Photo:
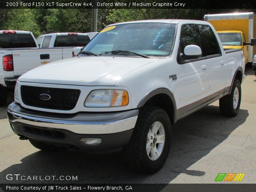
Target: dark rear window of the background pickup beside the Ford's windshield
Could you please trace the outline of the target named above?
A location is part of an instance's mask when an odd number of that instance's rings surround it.
[[[54,47],[84,47],[88,42],[90,38],[85,35],[58,35]]]

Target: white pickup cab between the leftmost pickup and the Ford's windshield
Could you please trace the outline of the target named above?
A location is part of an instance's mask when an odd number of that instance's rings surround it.
[[[40,48],[74,47],[77,55],[90,40],[86,33],[50,33],[39,36],[36,41]]]

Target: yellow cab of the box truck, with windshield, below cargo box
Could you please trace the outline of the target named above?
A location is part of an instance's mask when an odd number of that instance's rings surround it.
[[[248,63],[248,45],[244,44],[246,37],[244,32],[236,30],[217,31],[224,50],[242,49],[245,63]]]

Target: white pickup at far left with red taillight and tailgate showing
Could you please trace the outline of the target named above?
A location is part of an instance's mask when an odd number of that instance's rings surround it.
[[[73,48],[39,49],[28,31],[0,31],[0,106],[6,104],[8,89],[25,72],[42,64],[74,56]]]

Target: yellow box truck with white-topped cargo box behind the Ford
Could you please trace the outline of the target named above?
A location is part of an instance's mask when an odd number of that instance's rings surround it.
[[[208,14],[204,20],[217,31],[225,49],[242,49],[245,63],[252,63],[256,54],[256,14],[253,12]],[[250,43],[248,43],[250,41]],[[248,46],[251,45],[251,46]]]

